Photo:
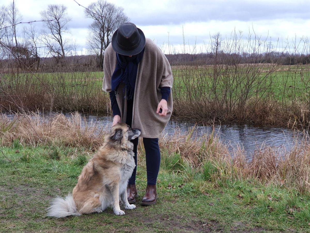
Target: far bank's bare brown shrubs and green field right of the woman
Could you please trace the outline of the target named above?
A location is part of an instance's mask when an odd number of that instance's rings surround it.
[[[309,66],[225,60],[212,67],[184,66],[174,73],[177,119],[289,128],[310,123]]]

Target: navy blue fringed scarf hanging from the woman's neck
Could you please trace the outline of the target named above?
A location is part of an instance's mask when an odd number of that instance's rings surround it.
[[[127,99],[131,100],[133,98],[138,64],[142,60],[143,53],[144,49],[132,57],[116,53],[117,64],[111,78],[111,89],[115,94],[119,84],[125,83]]]

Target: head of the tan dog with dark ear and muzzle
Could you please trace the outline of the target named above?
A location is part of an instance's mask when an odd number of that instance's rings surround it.
[[[125,123],[118,123],[111,128],[109,139],[122,144],[139,137],[140,133],[140,129],[133,129]]]

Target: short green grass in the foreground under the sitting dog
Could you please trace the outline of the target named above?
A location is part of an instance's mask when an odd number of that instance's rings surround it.
[[[51,150],[49,146],[24,146],[16,153],[13,146],[1,148],[1,232],[310,232],[309,195],[255,179],[210,182],[216,172],[211,164],[190,178],[181,164],[171,167],[177,155],[172,155],[170,163],[166,153],[162,153],[156,205],[139,204],[146,185],[140,159],[140,197],[137,208],[125,211],[125,216],[107,209],[101,214],[47,218],[51,198],[72,191],[83,159],[92,156],[88,149],[60,147],[60,158],[55,160]]]

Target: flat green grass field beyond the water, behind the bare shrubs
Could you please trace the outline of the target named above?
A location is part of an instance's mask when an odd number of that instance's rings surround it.
[[[268,70],[269,69],[269,70]],[[232,98],[237,98],[237,94],[244,88],[249,88],[249,95],[267,97],[272,95],[274,100],[282,101],[291,98],[301,98],[308,101],[308,90],[310,88],[310,72],[307,65],[279,66],[272,70],[268,66],[257,66],[242,68],[237,70],[232,67],[220,67],[216,76],[215,92],[223,95],[226,90],[232,91]],[[302,77],[300,74],[302,70]],[[188,95],[188,90],[193,86],[200,86],[202,91],[210,92],[213,89],[214,68],[211,66],[188,66],[172,67],[174,75],[174,91],[177,95]],[[9,77],[11,75],[5,75]],[[104,73],[97,72],[58,72],[58,73],[36,73],[19,74],[20,83],[33,82],[40,85],[43,82],[50,84],[55,89],[63,89],[64,92],[82,92],[87,86],[94,87],[90,92],[101,90]],[[16,78],[15,76],[14,78]],[[13,79],[14,79],[13,78]],[[252,80],[255,79],[255,80]],[[204,83],[201,83],[203,80]],[[260,83],[260,81],[264,81]],[[249,83],[251,82],[251,83]],[[225,87],[229,84],[229,87]],[[58,87],[57,87],[58,86]],[[228,88],[228,89],[226,89]],[[259,92],[259,93],[257,93]],[[195,96],[195,93],[190,93]],[[225,93],[227,94],[227,93]]]

